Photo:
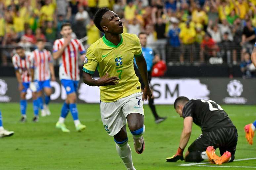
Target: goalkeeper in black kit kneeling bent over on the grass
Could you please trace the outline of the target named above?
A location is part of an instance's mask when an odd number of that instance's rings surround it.
[[[188,144],[193,122],[202,128],[202,134],[189,146],[185,161],[200,162],[208,159],[212,163],[222,164],[235,159],[237,129],[227,113],[212,100],[178,97],[174,108],[184,118],[183,131],[177,153],[166,158],[167,162],[184,160],[183,151]],[[221,157],[215,154],[220,149]]]

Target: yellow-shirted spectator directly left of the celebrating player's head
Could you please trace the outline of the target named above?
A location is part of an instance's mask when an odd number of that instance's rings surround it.
[[[100,31],[99,29],[94,25],[93,20],[91,19],[90,24],[86,26],[87,30],[87,45],[91,45],[92,43],[95,43],[97,40],[100,39]]]

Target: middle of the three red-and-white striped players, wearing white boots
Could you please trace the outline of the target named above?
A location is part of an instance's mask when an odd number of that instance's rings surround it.
[[[50,115],[48,104],[50,102],[50,96],[52,94],[52,88],[50,85],[50,77],[52,81],[55,81],[54,68],[52,63],[51,52],[44,49],[45,43],[42,39],[38,39],[36,43],[37,49],[32,54],[35,61],[35,80],[38,82],[38,103],[41,109],[41,116]],[[42,90],[45,93],[45,104],[43,104]]]

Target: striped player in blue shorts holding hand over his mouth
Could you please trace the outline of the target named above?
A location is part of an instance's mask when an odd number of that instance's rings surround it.
[[[78,51],[80,54],[85,53],[82,43],[77,39],[71,38],[72,29],[70,23],[64,23],[61,26],[61,35],[63,38],[58,39],[53,45],[53,58],[60,60],[59,77],[64,86],[67,98],[61,110],[61,116],[56,123],[56,127],[63,132],[69,132],[64,121],[70,110],[74,120],[77,131],[85,129],[78,119],[78,111],[76,108],[76,91],[79,83],[79,69],[78,69]],[[81,58],[83,56],[80,56]]]

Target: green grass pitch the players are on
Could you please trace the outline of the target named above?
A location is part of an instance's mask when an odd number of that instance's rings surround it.
[[[113,137],[107,135],[100,117],[99,104],[78,104],[80,121],[87,126],[83,132],[76,132],[69,114],[66,126],[70,133],[63,133],[55,128],[60,116],[62,104],[50,104],[51,116],[40,117],[38,123],[32,123],[32,104],[27,106],[27,122],[19,123],[20,106],[18,103],[0,103],[4,127],[14,130],[12,137],[0,139],[0,169],[34,170],[34,169],[90,169],[90,170],[124,170],[124,165],[116,153]],[[223,105],[238,129],[236,159],[256,157],[256,138],[254,145],[247,144],[243,127],[256,119],[256,106]],[[134,166],[137,170],[172,170],[172,169],[220,169],[214,167],[178,166],[187,162],[165,162],[165,158],[176,153],[183,119],[172,105],[157,105],[159,115],[168,119],[156,125],[149,106],[145,105],[145,151],[136,154],[133,139],[128,133],[132,149]],[[193,124],[192,136],[188,146],[195,140],[201,130]],[[187,149],[187,148],[186,148]],[[217,151],[219,154],[219,152]],[[211,165],[211,164],[206,164]],[[231,169],[255,169],[256,159],[224,164]],[[242,166],[246,166],[242,168]],[[228,169],[228,167],[223,168]]]

